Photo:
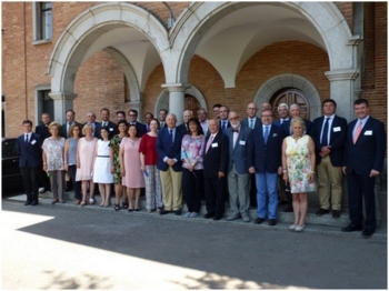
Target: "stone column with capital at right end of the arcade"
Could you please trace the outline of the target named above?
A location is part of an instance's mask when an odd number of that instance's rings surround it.
[[[353,101],[358,98],[355,90],[355,80],[358,77],[358,70],[332,70],[326,72],[328,80],[331,82],[330,97],[337,102],[337,114],[346,118],[347,121],[355,119]]]

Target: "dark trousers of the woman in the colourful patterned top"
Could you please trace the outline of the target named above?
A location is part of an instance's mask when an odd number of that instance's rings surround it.
[[[200,212],[201,193],[203,192],[202,170],[182,168],[182,190],[186,197],[188,212]]]

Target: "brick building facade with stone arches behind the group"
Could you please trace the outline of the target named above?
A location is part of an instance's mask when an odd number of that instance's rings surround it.
[[[82,122],[102,107],[179,113],[187,98],[245,114],[282,90],[306,98],[310,119],[332,98],[351,120],[367,98],[387,123],[386,2],[167,3],[52,2],[41,38],[40,2],[3,2],[3,136],[44,109]]]

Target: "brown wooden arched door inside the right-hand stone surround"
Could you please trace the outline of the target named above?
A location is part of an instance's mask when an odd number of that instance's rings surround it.
[[[285,88],[277,91],[270,99],[271,108],[273,109],[275,120],[279,119],[277,108],[280,103],[287,103],[288,107],[297,103],[301,108],[300,117],[310,120],[309,102],[305,93],[296,88]]]

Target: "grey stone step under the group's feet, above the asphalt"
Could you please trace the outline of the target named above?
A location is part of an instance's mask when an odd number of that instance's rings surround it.
[[[93,205],[87,204],[87,205],[84,205],[84,208],[93,209],[97,211],[116,212],[113,209],[113,203],[108,208],[100,207],[100,201],[101,201],[100,195],[96,195],[94,198],[96,198],[96,203]],[[17,194],[13,197],[9,197],[8,199],[11,201],[24,202],[26,194]],[[52,200],[51,192],[46,192],[43,194],[40,194],[40,198],[39,198],[40,204],[51,205],[51,200]],[[113,197],[111,197],[111,202],[114,202]],[[181,215],[176,215],[174,213],[169,213],[169,214],[164,214],[164,215],[160,215],[157,212],[148,213],[144,209],[144,205],[146,205],[144,197],[140,198],[141,210],[139,212],[132,211],[131,213],[129,213],[127,210],[120,209],[118,211],[118,213],[131,214],[131,215],[151,215],[151,217],[161,218],[161,219],[174,219],[174,220],[188,220],[189,219],[189,220],[194,220],[194,221],[207,221],[207,222],[212,222],[212,223],[242,223],[242,224],[246,224],[247,222],[243,222],[241,219],[237,219],[233,221],[227,221],[226,218],[231,213],[231,210],[230,210],[228,204],[229,203],[226,202],[225,215],[219,221],[203,219],[202,215],[205,213],[207,213],[205,201],[202,201],[200,215],[197,218],[184,218],[183,217],[183,214],[187,212],[186,203],[183,203]],[[381,202],[381,204],[382,204],[382,202]],[[66,192],[66,203],[63,203],[63,204],[57,203],[54,207],[81,208],[80,205],[73,204],[73,192],[72,191]],[[386,204],[383,207],[386,209]],[[269,227],[268,220],[262,222],[261,224],[258,224],[258,225],[255,224],[253,220],[257,218],[257,212],[256,212],[255,208],[250,208],[251,221],[248,223],[253,224],[253,227],[258,227],[258,228],[286,229],[293,222],[293,213],[292,212],[289,212],[289,213],[282,212],[281,210],[283,208],[285,208],[285,205],[279,207],[278,223],[275,227]],[[347,209],[341,212],[341,217],[338,219],[332,218],[331,212],[329,214],[325,214],[322,217],[317,217],[315,213],[318,209],[319,209],[319,202],[318,202],[317,193],[308,194],[308,213],[307,213],[307,219],[306,219],[306,228],[305,228],[303,232],[309,231],[309,232],[331,233],[331,234],[339,234],[339,235],[361,237],[359,231],[351,232],[351,233],[345,233],[345,232],[340,231],[340,229],[342,227],[348,225],[350,222],[349,218],[348,218]],[[379,225],[379,228],[377,228],[377,230],[372,237],[387,238],[388,231],[387,231],[386,217],[383,217],[382,214],[379,217],[382,217],[382,220],[379,221],[380,225]]]

